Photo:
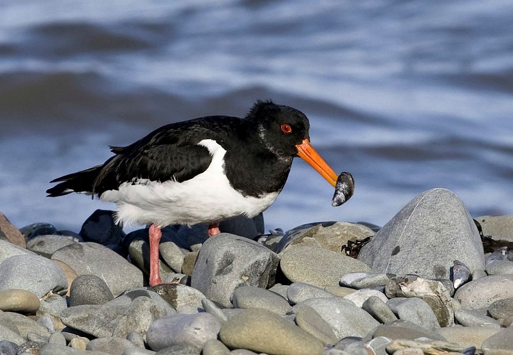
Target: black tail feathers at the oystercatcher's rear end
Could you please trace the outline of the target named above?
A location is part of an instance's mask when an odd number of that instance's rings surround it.
[[[71,192],[92,192],[94,181],[98,173],[102,170],[102,167],[103,165],[97,165],[86,170],[57,177],[57,179],[50,181],[50,183],[61,183],[46,190],[48,193],[47,197],[64,196]]]

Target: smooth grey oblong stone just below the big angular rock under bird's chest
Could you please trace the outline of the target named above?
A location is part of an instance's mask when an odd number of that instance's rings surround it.
[[[242,286],[235,289],[232,303],[235,308],[264,308],[278,314],[285,314],[290,310],[288,301],[283,297],[254,286]]]

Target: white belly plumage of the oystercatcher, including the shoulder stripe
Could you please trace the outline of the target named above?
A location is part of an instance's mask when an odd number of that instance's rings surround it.
[[[230,186],[224,173],[226,150],[214,140],[198,145],[208,149],[212,161],[203,173],[182,183],[140,180],[124,183],[119,190],[102,193],[102,201],[117,204],[116,218],[126,224],[170,224],[220,222],[236,215],[253,217],[269,207],[278,192],[260,198],[243,196]]]

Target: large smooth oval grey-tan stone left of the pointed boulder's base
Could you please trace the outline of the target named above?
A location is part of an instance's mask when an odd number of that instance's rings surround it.
[[[340,278],[349,272],[371,271],[366,264],[340,252],[301,244],[283,252],[280,267],[290,281],[319,287],[338,286]]]

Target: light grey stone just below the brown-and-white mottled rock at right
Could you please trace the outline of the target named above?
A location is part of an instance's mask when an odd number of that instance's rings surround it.
[[[423,326],[430,330],[440,329],[437,317],[426,301],[419,298],[401,299],[400,302],[390,303],[390,309],[399,319]]]

